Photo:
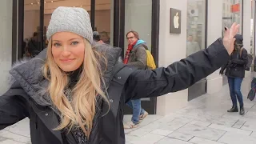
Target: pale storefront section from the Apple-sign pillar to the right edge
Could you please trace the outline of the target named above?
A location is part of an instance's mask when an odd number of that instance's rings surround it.
[[[206,7],[203,8],[205,4]],[[170,34],[170,8],[182,11],[180,24],[181,34]],[[206,11],[204,12],[204,10]],[[180,2],[161,0],[159,66],[168,66],[172,62],[186,58],[188,52],[193,53],[191,50],[188,50],[189,46],[187,46],[190,35],[192,35],[192,39],[198,43],[200,50],[202,50],[206,48],[206,46],[210,46],[217,38],[221,38],[224,26],[230,26],[233,22],[240,23],[241,27],[239,33],[244,37],[244,47],[250,52],[251,13],[254,14],[254,12],[251,11],[251,2],[246,0],[182,0]],[[203,18],[205,18],[206,21],[204,21]],[[201,26],[196,26],[198,24]],[[194,52],[196,52],[196,50]],[[214,94],[222,89],[223,82],[225,82],[225,78],[222,78],[222,75],[219,74],[219,70],[216,70],[213,74],[210,74],[207,78],[202,79],[201,82],[196,83],[186,90],[158,97],[157,114],[170,114],[186,106],[190,99],[198,97],[201,94],[206,93],[210,96],[210,94]],[[203,90],[205,90],[205,92]]]

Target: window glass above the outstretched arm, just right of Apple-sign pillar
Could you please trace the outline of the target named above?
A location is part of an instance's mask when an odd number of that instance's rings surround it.
[[[187,1],[186,57],[205,49],[206,0]]]

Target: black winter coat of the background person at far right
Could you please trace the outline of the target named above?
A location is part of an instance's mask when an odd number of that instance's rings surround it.
[[[240,50],[239,50],[240,51]],[[245,66],[248,62],[247,50],[242,49],[242,53],[234,51],[230,55],[230,60],[226,65],[222,66],[220,71],[223,74],[223,71],[226,70],[225,75],[230,78],[244,78],[245,77]]]

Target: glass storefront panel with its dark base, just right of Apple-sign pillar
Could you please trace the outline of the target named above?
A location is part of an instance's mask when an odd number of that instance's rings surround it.
[[[206,44],[207,0],[187,1],[186,57],[207,47]],[[206,78],[188,88],[188,101],[206,94]]]

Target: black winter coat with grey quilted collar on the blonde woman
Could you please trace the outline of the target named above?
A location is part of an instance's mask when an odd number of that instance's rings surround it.
[[[205,50],[156,70],[122,66],[118,64],[121,50],[111,48],[106,52],[109,65],[104,78],[110,111],[98,119],[98,130],[90,136],[90,143],[94,144],[125,144],[122,108],[131,98],[157,97],[184,90],[218,70],[230,58],[221,39]],[[0,130],[28,117],[32,144],[63,144],[66,138],[74,144],[72,136],[63,138],[60,130],[53,130],[58,126],[58,116],[50,109],[50,103],[43,101],[45,94],[39,93],[48,86],[40,70],[44,61],[38,59],[45,58],[45,53],[10,70],[15,82],[0,97]],[[106,111],[106,104],[102,108]]]

